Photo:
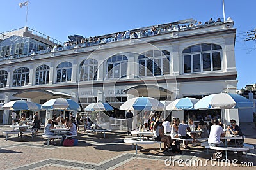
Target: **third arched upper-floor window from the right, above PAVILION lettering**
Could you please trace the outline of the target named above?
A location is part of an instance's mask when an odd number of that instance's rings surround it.
[[[127,57],[125,55],[113,55],[107,60],[108,78],[126,77]]]

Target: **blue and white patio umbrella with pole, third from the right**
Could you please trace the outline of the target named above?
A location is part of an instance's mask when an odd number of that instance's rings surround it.
[[[125,101],[120,110],[142,110],[142,124],[144,124],[144,110],[164,110],[164,104],[151,97],[135,97]]]

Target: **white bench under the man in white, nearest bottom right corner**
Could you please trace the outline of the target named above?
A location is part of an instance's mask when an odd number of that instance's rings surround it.
[[[237,152],[245,152],[246,153],[246,158],[247,158],[247,151],[249,150],[249,148],[244,148],[244,147],[218,147],[218,146],[209,146],[209,144],[207,142],[201,143],[201,146],[203,146],[204,148],[207,148],[207,153],[208,149],[210,150],[224,150],[225,151],[225,155],[226,155],[226,160],[228,159],[228,151],[237,151]],[[247,145],[249,147],[249,144]],[[250,146],[252,148],[252,146]],[[253,147],[254,148],[254,147]]]

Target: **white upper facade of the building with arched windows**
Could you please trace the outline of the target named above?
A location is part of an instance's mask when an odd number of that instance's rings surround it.
[[[0,100],[7,103],[12,99],[28,98],[40,103],[61,96],[38,92],[52,90],[69,95],[74,101],[80,102],[83,108],[93,101],[108,101],[118,108],[124,101],[136,96],[173,101],[191,95],[235,93],[236,29],[233,25],[231,20],[183,31],[161,32],[137,39],[2,60],[0,71],[7,72],[7,81],[6,86],[0,88]],[[211,49],[202,51],[201,47],[201,51],[184,53],[186,48],[194,45],[208,45]],[[189,63],[189,57],[185,55],[191,56],[190,69],[184,68],[184,60]],[[215,63],[218,66],[214,65],[214,60],[220,60]],[[143,63],[146,62],[148,66],[144,69]],[[42,65],[46,66],[43,68]],[[80,74],[81,66],[83,75]],[[20,67],[29,69],[28,85],[13,87],[13,78],[17,78],[13,76],[14,71]],[[39,75],[37,78],[36,73]],[[41,73],[47,76],[40,76]],[[42,79],[47,79],[47,83],[36,84],[39,81],[42,83]],[[3,123],[7,123],[9,117],[9,111],[4,111]]]

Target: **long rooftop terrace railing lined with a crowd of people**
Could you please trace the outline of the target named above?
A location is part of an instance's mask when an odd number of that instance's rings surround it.
[[[57,46],[57,44],[60,44],[60,43],[55,43],[56,46],[48,48],[47,50],[40,50],[40,51],[31,52],[31,53],[24,54],[24,55],[15,55],[15,56],[11,56],[11,57],[1,57],[0,60],[19,59],[19,58],[28,57],[31,55],[40,55],[40,54],[50,53],[50,52],[61,52],[61,51],[65,51],[65,50],[71,50],[74,48],[84,48],[84,47],[89,47],[89,46],[102,45],[102,44],[106,44],[106,43],[113,43],[116,41],[123,41],[126,39],[145,38],[145,37],[155,36],[155,35],[159,35],[159,34],[168,34],[170,32],[188,31],[191,29],[200,29],[203,27],[211,27],[214,25],[222,25],[223,24],[222,21],[220,21],[220,22],[214,21],[211,24],[204,22],[204,24],[202,23],[200,25],[199,24],[194,25],[194,24],[191,24],[192,20],[189,20],[190,23],[188,23],[188,20],[186,20],[186,21],[187,22],[177,22],[176,25],[172,25],[171,27],[170,27],[170,24],[161,24],[161,25],[158,25],[157,27],[155,26],[156,31],[152,31],[151,30],[152,27],[144,27],[141,29],[136,29],[136,31],[134,29],[134,30],[130,31],[129,36],[123,35],[123,36],[118,37],[118,36],[114,36],[115,34],[98,36],[98,37],[95,37],[95,38],[98,38],[97,40],[90,38],[90,39],[86,39],[84,41],[84,43],[79,42],[76,45],[74,44],[75,42],[73,42],[72,45],[68,45],[67,43],[65,43],[64,46]],[[28,30],[34,31],[33,29],[28,29]],[[140,31],[140,32],[137,32],[137,31]],[[36,33],[36,34],[38,36],[42,36],[43,38],[45,37],[45,34],[38,34],[38,33]],[[60,42],[60,41],[58,41],[58,42]]]

